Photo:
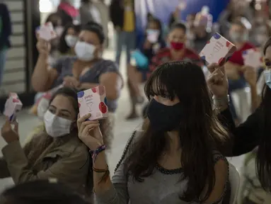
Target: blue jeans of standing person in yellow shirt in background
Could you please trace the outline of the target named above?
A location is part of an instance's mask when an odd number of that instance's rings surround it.
[[[126,47],[127,64],[130,63],[131,51],[135,49],[135,42],[136,42],[135,32],[126,32],[126,31],[117,32],[117,52],[115,58],[117,64],[120,64],[120,56],[122,55],[122,47],[124,45]]]

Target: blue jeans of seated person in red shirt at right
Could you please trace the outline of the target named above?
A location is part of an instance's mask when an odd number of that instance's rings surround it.
[[[240,79],[238,80],[231,80],[229,79],[229,108],[231,111],[231,114],[233,116],[233,119],[238,119],[238,115],[236,113],[236,108],[233,105],[232,97],[231,97],[231,92],[237,90],[237,89],[243,89],[246,87],[246,79],[241,76]]]

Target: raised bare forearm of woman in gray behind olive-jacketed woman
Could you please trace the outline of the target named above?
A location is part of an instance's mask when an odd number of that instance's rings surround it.
[[[48,72],[47,55],[39,55],[32,74],[32,86],[35,91],[47,91],[50,74]]]

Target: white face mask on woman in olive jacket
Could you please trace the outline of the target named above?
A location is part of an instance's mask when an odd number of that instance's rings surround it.
[[[61,137],[71,132],[71,120],[52,114],[49,110],[44,115],[45,130],[51,137]]]

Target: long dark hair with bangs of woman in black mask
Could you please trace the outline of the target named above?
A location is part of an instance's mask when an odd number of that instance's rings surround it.
[[[212,193],[214,173],[214,150],[228,138],[212,109],[207,84],[201,67],[190,62],[168,62],[157,67],[146,82],[145,94],[151,96],[178,96],[183,108],[178,132],[180,136],[180,162],[183,177],[188,179],[188,188],[181,200],[190,202],[207,200]],[[149,124],[127,156],[127,172],[138,182],[150,176],[158,159],[168,147],[166,132],[154,132]],[[204,188],[208,189],[204,195]]]

